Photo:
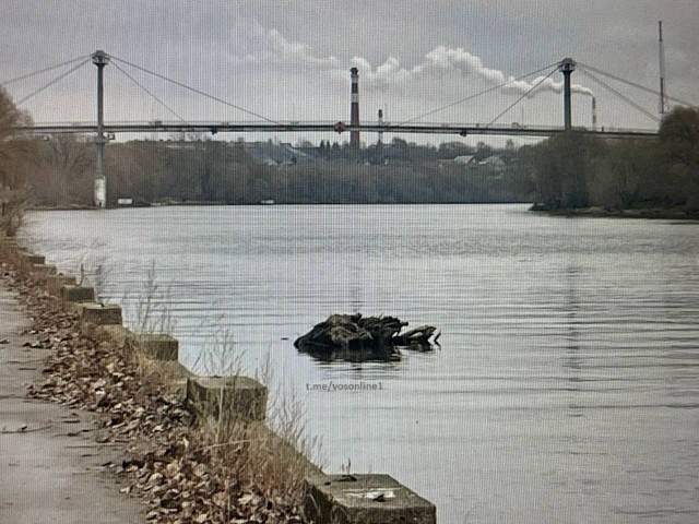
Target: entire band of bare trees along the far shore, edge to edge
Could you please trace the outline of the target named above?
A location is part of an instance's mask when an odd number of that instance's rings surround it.
[[[31,123],[0,88],[0,227],[12,233],[26,205],[88,206],[93,199],[92,138],[20,136]],[[608,140],[569,132],[519,150],[460,142],[418,145],[402,139],[360,152],[347,144],[303,143],[312,155],[288,165],[256,160],[241,142],[214,140],[109,143],[105,151],[110,204],[152,202],[472,203],[538,202],[559,211],[680,209],[699,212],[699,110],[676,108],[657,138]],[[505,166],[464,166],[498,154]]]

